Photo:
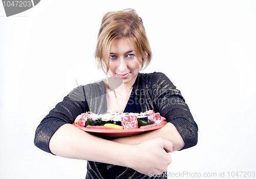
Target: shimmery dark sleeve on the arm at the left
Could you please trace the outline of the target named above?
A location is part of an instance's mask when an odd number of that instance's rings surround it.
[[[66,123],[73,123],[76,116],[88,111],[88,104],[83,86],[77,87],[63,98],[37,126],[34,144],[50,152],[49,141],[59,127]]]

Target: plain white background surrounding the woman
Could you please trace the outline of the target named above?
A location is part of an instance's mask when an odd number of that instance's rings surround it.
[[[171,154],[168,172],[256,172],[256,1],[42,0],[11,17],[0,4],[0,178],[86,176],[86,161],[38,149],[34,133],[75,80],[105,77],[93,57],[101,18],[126,8],[152,46],[144,72],[165,73],[199,127],[198,144]]]

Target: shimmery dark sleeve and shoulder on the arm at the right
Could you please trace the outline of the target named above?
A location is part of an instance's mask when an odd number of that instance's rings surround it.
[[[185,143],[183,149],[197,144],[198,126],[181,92],[165,74],[139,73],[135,88],[143,111],[159,112],[168,122],[175,125]]]

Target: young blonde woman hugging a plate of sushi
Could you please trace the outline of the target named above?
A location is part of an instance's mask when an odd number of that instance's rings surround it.
[[[112,78],[80,86],[40,122],[35,145],[54,155],[88,161],[87,178],[166,178],[168,152],[197,144],[198,127],[179,90],[160,72],[140,73],[151,61],[142,19],[132,9],[102,19],[95,52]],[[104,137],[72,125],[81,113],[159,112],[167,123],[130,137]]]

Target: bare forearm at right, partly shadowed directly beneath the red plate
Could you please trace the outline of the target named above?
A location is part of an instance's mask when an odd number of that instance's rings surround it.
[[[158,130],[148,131],[146,133],[142,133],[136,136],[122,137],[114,139],[113,141],[123,144],[135,145],[145,140],[157,137],[171,141],[173,143],[174,151],[180,150],[184,147],[184,141],[180,133],[177,131],[176,127],[170,122],[167,122],[162,128]]]

